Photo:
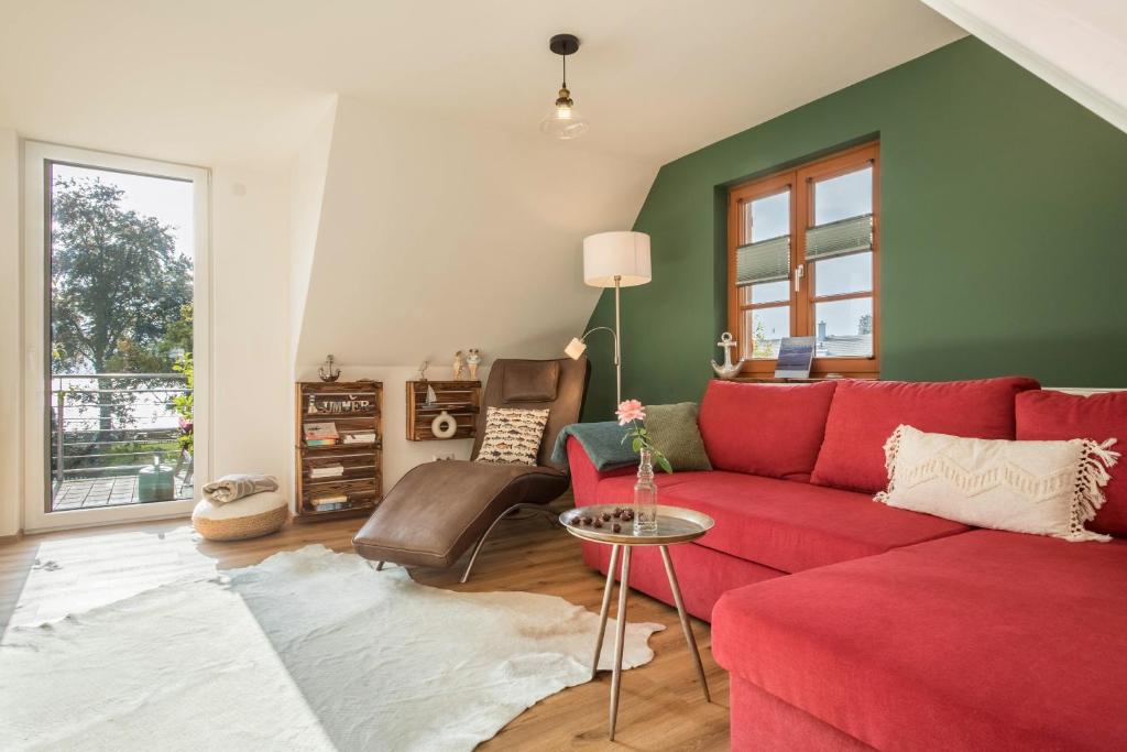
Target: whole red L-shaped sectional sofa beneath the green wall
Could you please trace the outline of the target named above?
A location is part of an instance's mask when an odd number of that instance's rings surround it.
[[[671,554],[731,674],[733,749],[1127,749],[1127,539],[974,530],[873,502],[900,423],[1127,444],[1127,392],[1020,378],[711,382],[700,426],[713,470],[658,485],[662,503],[716,519]],[[578,505],[631,502],[632,469],[596,471],[574,437],[568,457]],[[1127,538],[1115,470],[1090,527]],[[607,557],[584,545],[603,573]],[[630,574],[672,602],[653,551],[636,551]]]

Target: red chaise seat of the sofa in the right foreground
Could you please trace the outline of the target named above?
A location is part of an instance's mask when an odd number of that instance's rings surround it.
[[[1122,750],[1127,541],[974,531],[726,593],[717,661],[879,750]]]

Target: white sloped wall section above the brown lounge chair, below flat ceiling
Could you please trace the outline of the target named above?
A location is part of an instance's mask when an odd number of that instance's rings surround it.
[[[574,145],[340,97],[296,369],[558,356],[598,298],[583,238],[656,172]]]

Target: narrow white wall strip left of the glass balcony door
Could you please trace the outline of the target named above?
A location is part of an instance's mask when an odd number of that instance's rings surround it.
[[[0,129],[0,538],[24,511],[24,308],[19,241],[19,140]]]

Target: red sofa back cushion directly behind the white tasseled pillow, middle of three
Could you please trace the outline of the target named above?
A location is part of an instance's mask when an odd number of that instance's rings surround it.
[[[1014,397],[1033,379],[854,381],[837,384],[811,483],[867,494],[888,485],[885,442],[902,423],[974,439],[1014,437]]]

